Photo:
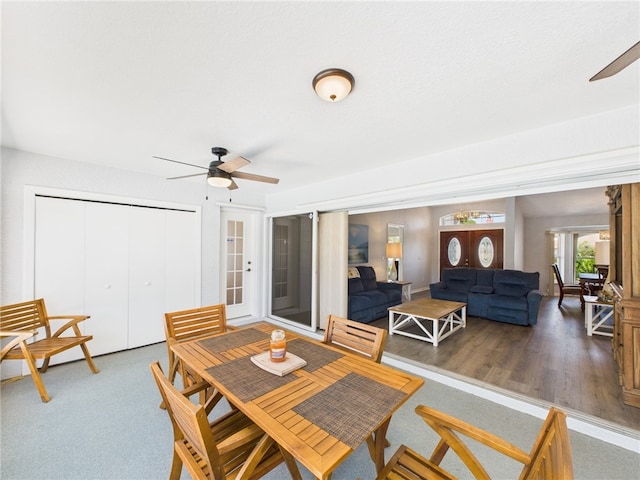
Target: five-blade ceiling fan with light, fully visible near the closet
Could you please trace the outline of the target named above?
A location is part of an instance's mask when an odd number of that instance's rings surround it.
[[[203,173],[194,173],[191,175],[182,175],[180,177],[170,177],[167,180],[176,180],[178,178],[187,178],[187,177],[196,177],[198,175],[206,175],[207,183],[214,187],[228,188],[229,190],[235,190],[238,188],[236,182],[233,181],[234,178],[241,178],[243,180],[253,180],[255,182],[264,182],[264,183],[273,183],[276,184],[280,181],[278,178],[274,177],[265,177],[264,175],[256,175],[254,173],[243,173],[238,172],[237,170],[249,165],[251,162],[244,157],[234,157],[231,160],[224,162],[222,161],[222,157],[224,157],[227,153],[226,148],[222,147],[213,147],[211,149],[211,153],[213,153],[218,160],[213,160],[208,167],[203,167],[202,165],[194,165],[192,163],[180,162],[178,160],[171,160],[170,158],[156,157],[159,160],[166,160],[167,162],[180,163],[181,165],[188,165],[190,167],[203,168],[207,170],[207,172]]]

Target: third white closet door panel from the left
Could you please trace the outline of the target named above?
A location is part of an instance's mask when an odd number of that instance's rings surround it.
[[[165,340],[165,211],[129,209],[129,348]]]

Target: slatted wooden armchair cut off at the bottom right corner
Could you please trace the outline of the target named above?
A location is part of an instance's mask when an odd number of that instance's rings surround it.
[[[380,472],[377,480],[405,478],[455,478],[442,470],[440,463],[453,450],[471,474],[480,480],[491,477],[463,438],[473,440],[506,455],[524,466],[521,480],[571,480],[573,460],[567,430],[566,414],[551,408],[530,453],[506,440],[455,417],[423,405],[416,413],[440,436],[429,459],[402,445]],[[437,468],[436,468],[437,467]],[[412,472],[409,475],[408,472]]]

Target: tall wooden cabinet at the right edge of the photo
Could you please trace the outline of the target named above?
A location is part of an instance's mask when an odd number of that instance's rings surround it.
[[[640,407],[640,183],[607,189],[616,296],[613,353],[624,403]]]

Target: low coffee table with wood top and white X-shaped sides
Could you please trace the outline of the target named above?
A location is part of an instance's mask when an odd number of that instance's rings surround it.
[[[397,333],[433,344],[467,326],[467,304],[433,298],[389,307],[389,335]],[[430,325],[429,325],[430,324]],[[409,328],[413,331],[409,331]],[[431,326],[431,329],[429,328]]]

